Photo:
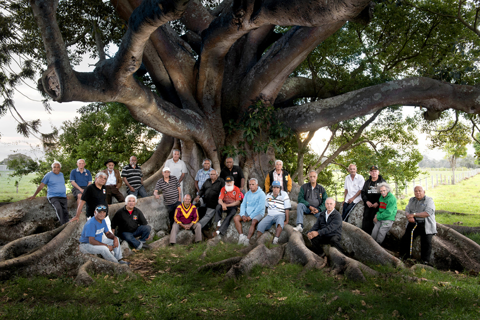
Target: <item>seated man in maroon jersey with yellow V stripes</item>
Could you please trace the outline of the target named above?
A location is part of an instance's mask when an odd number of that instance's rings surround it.
[[[198,212],[196,207],[191,204],[191,197],[186,194],[183,197],[183,202],[176,208],[175,222],[171,227],[170,245],[176,243],[176,235],[180,228],[185,230],[192,230],[195,234],[195,242],[201,241],[201,225],[198,223]]]

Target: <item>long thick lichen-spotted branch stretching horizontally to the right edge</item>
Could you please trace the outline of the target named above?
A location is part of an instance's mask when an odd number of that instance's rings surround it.
[[[480,89],[411,77],[351,91],[336,97],[276,111],[276,117],[296,133],[317,130],[391,105],[421,105],[424,116],[446,109],[480,113]]]

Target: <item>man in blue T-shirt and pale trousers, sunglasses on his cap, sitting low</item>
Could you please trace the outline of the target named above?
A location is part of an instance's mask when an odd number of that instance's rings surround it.
[[[81,231],[80,252],[84,254],[100,254],[103,259],[113,263],[127,264],[120,260],[121,249],[118,245],[118,238],[108,231],[105,223],[106,206],[100,204],[93,211],[93,218],[89,219]],[[102,240],[102,235],[106,238]]]

